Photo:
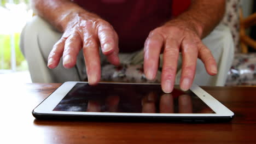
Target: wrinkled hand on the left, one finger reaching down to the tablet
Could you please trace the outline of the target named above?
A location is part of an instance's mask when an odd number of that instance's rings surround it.
[[[54,69],[63,57],[65,68],[74,67],[83,49],[86,73],[90,85],[101,78],[99,47],[110,63],[119,65],[118,35],[114,28],[95,14],[78,13],[67,22],[65,31],[48,57],[48,67]]]

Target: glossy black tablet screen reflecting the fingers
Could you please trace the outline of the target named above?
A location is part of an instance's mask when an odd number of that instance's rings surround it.
[[[160,85],[120,83],[77,83],[53,111],[215,113],[191,91],[176,87],[166,94]]]

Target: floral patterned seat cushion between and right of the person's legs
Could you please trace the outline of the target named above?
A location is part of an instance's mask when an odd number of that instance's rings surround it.
[[[158,70],[155,80],[149,81],[144,75],[143,65],[122,64],[115,67],[106,64],[102,67],[102,81],[160,83],[160,71],[161,69]],[[235,55],[228,73],[226,86],[236,85],[256,85],[256,53],[238,53]]]

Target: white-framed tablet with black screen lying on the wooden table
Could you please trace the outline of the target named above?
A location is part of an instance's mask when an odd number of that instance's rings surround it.
[[[177,86],[162,92],[160,84],[65,82],[40,103],[38,119],[159,119],[167,121],[229,121],[234,113],[202,88],[187,92]]]

